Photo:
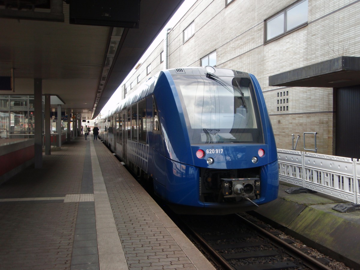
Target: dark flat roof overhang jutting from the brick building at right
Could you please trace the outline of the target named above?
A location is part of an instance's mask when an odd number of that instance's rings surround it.
[[[360,85],[360,57],[341,56],[269,76],[269,86],[345,87]]]

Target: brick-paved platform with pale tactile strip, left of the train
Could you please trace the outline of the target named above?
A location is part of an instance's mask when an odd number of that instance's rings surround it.
[[[0,185],[1,269],[214,269],[100,140]]]

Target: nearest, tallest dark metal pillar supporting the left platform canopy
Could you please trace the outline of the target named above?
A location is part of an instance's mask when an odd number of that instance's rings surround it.
[[[35,123],[35,145],[34,163],[35,168],[42,168],[42,79],[34,79],[34,123]]]

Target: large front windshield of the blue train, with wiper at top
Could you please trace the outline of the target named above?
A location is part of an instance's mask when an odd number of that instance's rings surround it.
[[[191,144],[264,143],[250,78],[173,78],[183,103]]]

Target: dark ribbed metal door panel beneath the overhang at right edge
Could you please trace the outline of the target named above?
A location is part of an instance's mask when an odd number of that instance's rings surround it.
[[[335,154],[360,159],[360,85],[339,88],[336,108]]]

